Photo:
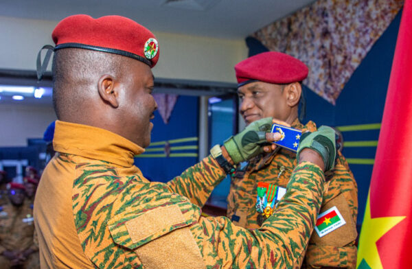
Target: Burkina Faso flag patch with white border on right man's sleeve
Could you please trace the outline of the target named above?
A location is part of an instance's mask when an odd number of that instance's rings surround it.
[[[314,230],[317,232],[319,237],[322,237],[323,235],[327,235],[345,224],[346,222],[338,208],[332,207],[319,214]]]

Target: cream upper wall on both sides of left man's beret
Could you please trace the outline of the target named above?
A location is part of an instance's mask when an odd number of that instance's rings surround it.
[[[57,21],[0,16],[0,69],[36,69],[38,50],[54,44],[50,37]],[[243,39],[157,33],[158,78],[236,82],[233,66],[247,57]]]

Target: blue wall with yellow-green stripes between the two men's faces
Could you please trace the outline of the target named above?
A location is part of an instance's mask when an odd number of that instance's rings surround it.
[[[135,165],[149,180],[167,182],[198,162],[198,97],[179,96],[168,124],[158,111],[152,123],[152,143]]]

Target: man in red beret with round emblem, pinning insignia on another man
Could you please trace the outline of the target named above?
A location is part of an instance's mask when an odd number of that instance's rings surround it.
[[[319,130],[299,148],[285,195],[295,202],[279,204],[283,212],[262,229],[204,218],[201,207],[233,165],[279,139],[266,133],[271,117],[214,147],[169,183],[149,182],[133,163],[150,143],[157,108],[155,36],[121,16],[74,15],[58,23],[52,38],[57,153],[34,202],[42,268],[290,268],[299,262],[320,209],[323,171],[332,168],[324,160],[334,159],[328,153],[333,131]],[[323,154],[311,143],[320,134],[331,142],[320,145]]]

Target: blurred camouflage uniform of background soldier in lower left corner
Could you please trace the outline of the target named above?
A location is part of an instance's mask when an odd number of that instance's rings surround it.
[[[4,250],[24,251],[28,248],[37,250],[34,244],[34,220],[33,210],[30,207],[14,207],[12,204],[4,204],[0,211],[0,253]],[[36,268],[29,266],[33,255],[27,258],[22,268]],[[10,268],[10,262],[0,255],[0,268]]]

